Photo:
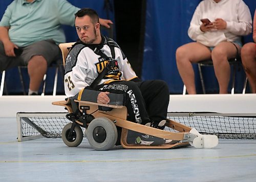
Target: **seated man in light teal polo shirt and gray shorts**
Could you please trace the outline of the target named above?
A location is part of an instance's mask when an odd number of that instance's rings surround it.
[[[58,44],[65,42],[61,25],[74,26],[79,10],[66,0],[13,1],[0,21],[0,71],[27,65],[29,95],[37,95],[47,66],[59,56]],[[111,20],[100,19],[109,28]]]

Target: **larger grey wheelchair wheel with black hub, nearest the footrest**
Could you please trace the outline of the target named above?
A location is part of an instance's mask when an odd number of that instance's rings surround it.
[[[108,118],[96,118],[88,126],[87,139],[95,150],[109,150],[117,141],[116,125]]]

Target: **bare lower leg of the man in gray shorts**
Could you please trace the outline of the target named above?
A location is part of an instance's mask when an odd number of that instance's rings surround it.
[[[47,71],[47,61],[42,56],[33,56],[28,62],[29,89],[37,91]]]

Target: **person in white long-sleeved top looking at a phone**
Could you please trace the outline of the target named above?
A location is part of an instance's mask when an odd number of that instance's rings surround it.
[[[201,19],[209,19],[209,22]],[[242,47],[241,36],[251,33],[249,8],[242,0],[204,0],[196,8],[188,36],[196,42],[176,50],[178,71],[188,94],[196,94],[192,63],[212,59],[219,93],[227,94],[230,79],[229,58]]]

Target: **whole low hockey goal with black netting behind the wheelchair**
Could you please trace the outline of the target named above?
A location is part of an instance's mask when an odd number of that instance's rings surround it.
[[[70,123],[66,115],[66,112],[18,112],[18,141],[61,138],[62,128]],[[256,139],[256,114],[169,112],[167,118],[220,139]]]

